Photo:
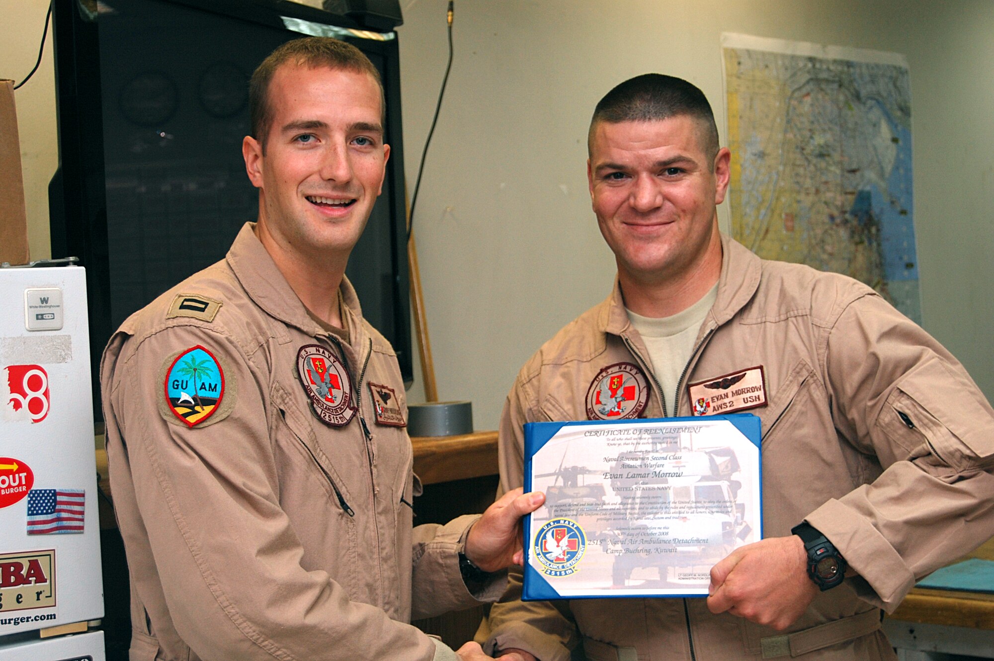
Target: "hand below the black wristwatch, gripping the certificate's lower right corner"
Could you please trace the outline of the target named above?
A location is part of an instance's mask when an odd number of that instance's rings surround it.
[[[773,537],[733,551],[711,570],[708,608],[782,631],[818,594],[807,575],[804,543],[796,535]]]

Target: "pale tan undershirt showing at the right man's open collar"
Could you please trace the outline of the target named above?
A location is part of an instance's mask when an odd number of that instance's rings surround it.
[[[718,298],[718,283],[686,310],[669,317],[653,318],[635,314],[628,308],[628,319],[642,336],[656,380],[663,389],[667,415],[676,415],[676,394],[680,377],[694,353],[698,331],[708,311]]]

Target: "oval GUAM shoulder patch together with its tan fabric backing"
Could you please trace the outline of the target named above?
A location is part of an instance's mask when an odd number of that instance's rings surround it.
[[[163,385],[159,413],[168,422],[208,426],[235,409],[233,374],[206,347],[198,344],[170,355],[159,373]]]

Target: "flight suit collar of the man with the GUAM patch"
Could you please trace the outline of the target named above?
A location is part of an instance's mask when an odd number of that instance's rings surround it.
[[[228,250],[226,259],[235,276],[245,288],[248,297],[267,314],[293,326],[312,337],[328,335],[307,314],[307,308],[283,277],[276,263],[255,236],[255,224],[246,223],[239,231],[235,243]],[[342,276],[342,321],[347,324],[351,344],[360,339],[362,308],[359,297],[349,279]]]

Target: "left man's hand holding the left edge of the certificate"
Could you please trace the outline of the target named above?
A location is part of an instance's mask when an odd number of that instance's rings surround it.
[[[497,572],[524,562],[521,517],[542,507],[546,495],[541,491],[523,494],[521,488],[508,491],[469,530],[463,553],[484,572]]]

